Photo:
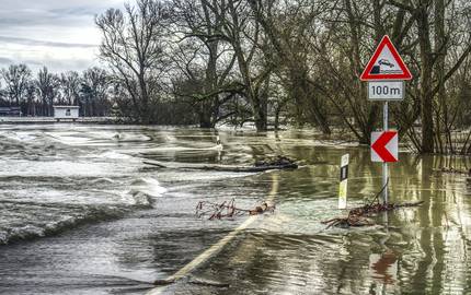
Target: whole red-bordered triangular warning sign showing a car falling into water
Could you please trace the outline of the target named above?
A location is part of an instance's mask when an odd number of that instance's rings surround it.
[[[384,35],[359,79],[361,81],[411,80],[412,74],[389,36]]]

